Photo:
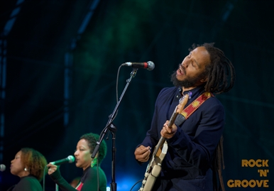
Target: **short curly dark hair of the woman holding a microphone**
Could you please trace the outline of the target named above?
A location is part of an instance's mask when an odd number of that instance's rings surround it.
[[[88,142],[88,146],[90,148],[90,153],[92,154],[95,146],[97,146],[96,143],[99,140],[99,135],[96,133],[86,133],[86,134],[82,135],[80,137],[80,139],[85,139]],[[102,160],[106,156],[106,150],[107,150],[106,141],[103,140],[102,143],[100,144],[99,151],[98,151],[99,155],[97,157],[97,161],[98,161],[99,165],[102,163]]]

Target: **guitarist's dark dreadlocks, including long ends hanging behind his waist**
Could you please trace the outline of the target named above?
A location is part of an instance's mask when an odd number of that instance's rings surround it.
[[[199,46],[204,46],[210,56],[210,63],[206,66],[203,74],[207,77],[204,90],[215,94],[228,92],[234,86],[235,81],[235,70],[231,61],[226,58],[222,50],[214,47],[214,43],[204,43],[202,45],[193,44],[190,51]],[[223,141],[224,138],[221,136],[212,160],[214,191],[225,191],[224,180],[221,175],[221,170],[224,169]]]

